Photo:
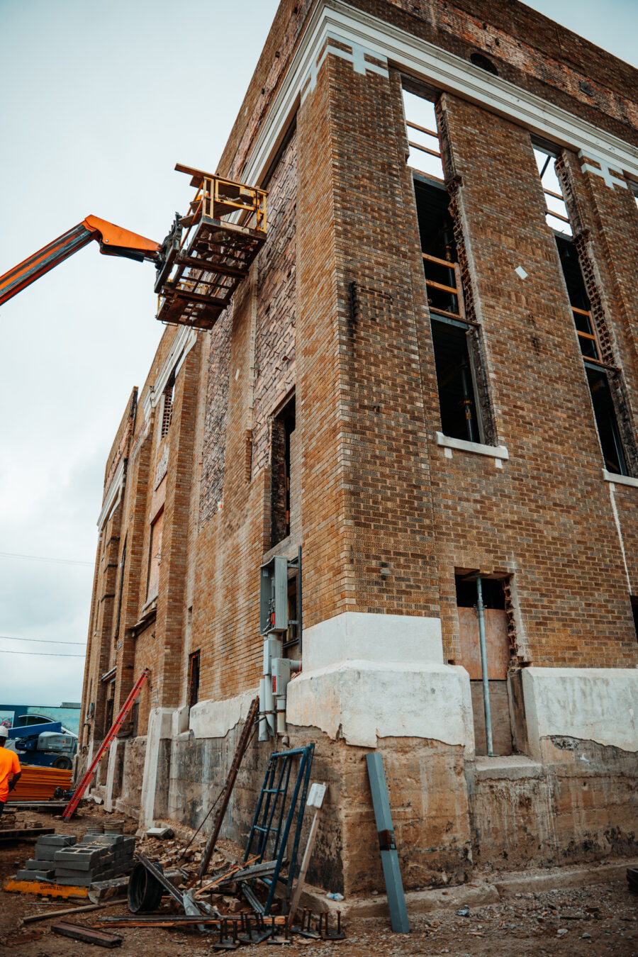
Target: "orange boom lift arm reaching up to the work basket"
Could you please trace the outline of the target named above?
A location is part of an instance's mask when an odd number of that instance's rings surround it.
[[[98,216],[87,216],[68,233],[58,236],[48,246],[44,246],[4,276],[0,276],[0,305],[31,285],[35,279],[44,276],[64,259],[73,256],[92,239],[99,243],[99,252],[104,256],[124,256],[142,262],[143,259],[156,261],[160,255],[160,245],[152,239],[122,230],[120,226],[99,219]]]

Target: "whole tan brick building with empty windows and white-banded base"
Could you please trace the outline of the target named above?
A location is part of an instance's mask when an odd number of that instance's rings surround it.
[[[200,824],[259,569],[301,547],[314,882],[380,885],[371,748],[407,887],[635,851],[637,89],[514,0],[282,0],[217,167],[268,191],[266,241],[209,330],[166,327],[106,465],[88,752],[151,672],[108,804]]]

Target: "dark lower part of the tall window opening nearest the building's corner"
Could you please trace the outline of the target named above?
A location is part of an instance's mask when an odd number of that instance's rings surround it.
[[[476,401],[472,323],[466,319],[453,223],[444,189],[414,180],[439,393],[441,429],[451,438],[482,440]]]

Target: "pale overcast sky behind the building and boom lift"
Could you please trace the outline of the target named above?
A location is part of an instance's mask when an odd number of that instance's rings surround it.
[[[89,213],[162,240],[191,198],[175,163],[217,166],[276,6],[0,0],[0,274]],[[635,0],[528,6],[635,65]],[[164,329],[154,274],[91,243],[0,308],[0,705],[80,699],[105,459]]]

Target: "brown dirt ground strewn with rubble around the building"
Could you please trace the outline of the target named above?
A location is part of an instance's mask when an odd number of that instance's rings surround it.
[[[39,820],[44,826],[55,826],[57,834],[82,835],[92,822],[103,823],[109,818],[99,808],[83,810],[72,822],[52,818],[48,814],[21,812],[24,819]],[[134,834],[136,822],[127,820],[124,831]],[[176,841],[178,850],[180,841]],[[222,844],[226,857],[229,847]],[[231,846],[230,846],[231,847]],[[160,848],[158,847],[158,851]],[[177,852],[165,847],[165,861]],[[2,884],[32,856],[33,844],[0,845],[0,881]],[[157,856],[156,856],[157,857]],[[196,860],[195,854],[195,860]],[[49,929],[53,921],[43,921],[20,927],[20,919],[36,913],[66,909],[89,901],[46,903],[33,895],[0,892],[0,954],[7,957],[76,957],[99,954],[102,948],[82,944],[56,936]],[[393,934],[384,920],[344,922],[347,939],[340,943],[305,941],[294,938],[287,946],[292,954],[308,957],[368,957],[368,955],[416,955],[438,957],[523,957],[523,955],[585,954],[589,957],[638,957],[638,896],[627,888],[626,881],[592,884],[543,893],[516,894],[493,904],[472,907],[469,914],[457,914],[457,905],[450,909],[431,911],[410,919],[411,932]],[[163,902],[163,909],[170,907]],[[110,906],[64,920],[85,926],[99,926],[102,916],[127,914],[125,904]],[[184,929],[121,928],[113,930],[121,935],[121,957],[180,957],[181,954],[204,955],[214,953],[214,938]],[[268,952],[266,944],[244,946],[241,953],[257,957]]]

